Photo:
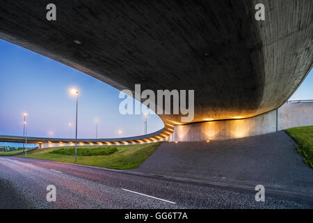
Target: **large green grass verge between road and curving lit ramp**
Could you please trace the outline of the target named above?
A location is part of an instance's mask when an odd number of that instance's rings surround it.
[[[58,162],[85,164],[111,169],[133,169],[137,168],[143,161],[145,161],[145,159],[147,159],[147,157],[149,157],[154,152],[154,150],[158,148],[159,144],[160,143],[157,142],[153,144],[138,144],[126,146],[77,146],[77,151],[89,151],[87,153],[89,155],[83,155],[86,153],[80,152],[77,155],[77,162],[74,162],[74,155],[64,155],[64,153],[74,151],[74,146],[38,149],[27,153],[27,157],[42,160],[53,160]],[[108,148],[110,149],[108,150]],[[93,150],[98,152],[110,151],[109,153],[111,154],[90,155],[90,153],[94,153]],[[24,155],[18,156],[24,157]]]

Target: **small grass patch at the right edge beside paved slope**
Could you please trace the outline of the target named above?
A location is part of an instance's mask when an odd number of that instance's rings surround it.
[[[285,131],[296,141],[297,151],[303,155],[303,161],[313,168],[313,126],[289,128]]]

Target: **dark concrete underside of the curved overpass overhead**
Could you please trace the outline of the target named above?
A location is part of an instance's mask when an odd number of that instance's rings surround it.
[[[54,1],[52,22],[48,3],[2,1],[0,38],[116,89],[194,89],[193,122],[280,107],[312,68],[312,0]]]

